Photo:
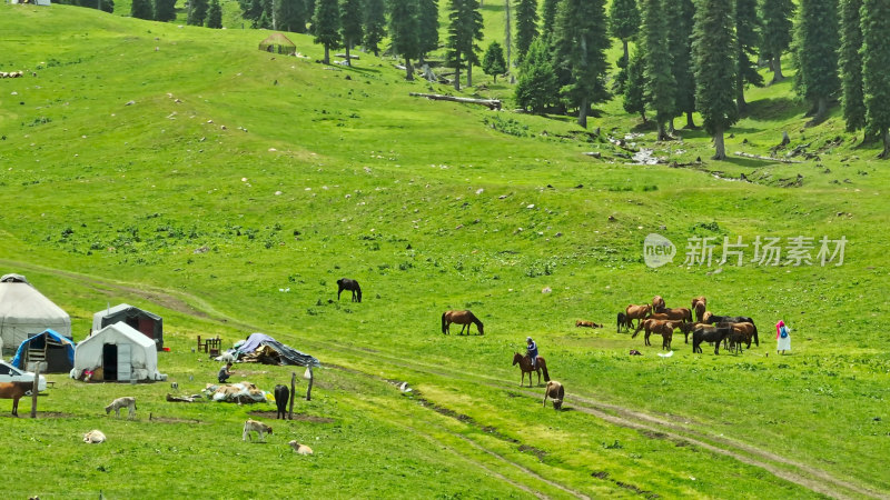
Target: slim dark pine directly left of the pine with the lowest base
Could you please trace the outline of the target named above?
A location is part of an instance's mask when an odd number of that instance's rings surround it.
[[[668,47],[671,51],[671,73],[676,82],[674,116],[686,114],[686,128],[694,129],[695,77],[692,71],[692,26],[695,6],[692,0],[675,0],[668,9]],[[674,131],[673,119],[669,129]]]

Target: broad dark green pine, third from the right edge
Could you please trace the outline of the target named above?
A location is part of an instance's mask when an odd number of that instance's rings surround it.
[[[813,104],[813,121],[821,122],[828,111],[828,100],[840,87],[838,79],[837,0],[800,0],[798,26],[794,30],[794,58],[798,92]]]

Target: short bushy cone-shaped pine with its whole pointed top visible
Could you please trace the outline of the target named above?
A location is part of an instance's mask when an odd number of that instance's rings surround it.
[[[552,104],[560,92],[556,76],[551,64],[550,47],[544,37],[537,37],[528,46],[528,51],[520,66],[520,79],[516,82],[516,104],[530,109],[534,113],[543,113]]]

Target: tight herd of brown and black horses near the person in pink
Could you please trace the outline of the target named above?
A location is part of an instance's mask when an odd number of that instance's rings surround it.
[[[693,321],[692,313],[695,312]],[[633,321],[636,320],[634,329]],[[649,337],[652,333],[662,336],[662,349],[670,350],[674,330],[679,329],[689,343],[692,333],[692,352],[702,352],[702,342],[714,344],[714,354],[720,354],[720,344],[730,350],[741,352],[742,343],[751,349],[751,342],[760,346],[758,327],[754,320],[746,316],[716,316],[708,310],[708,299],[696,297],[692,299],[691,308],[668,308],[661,296],[652,298],[652,303],[636,306],[630,304],[624,312],[617,314],[617,331],[634,329],[631,338],[640,331],[645,331],[644,343],[651,346]]]

